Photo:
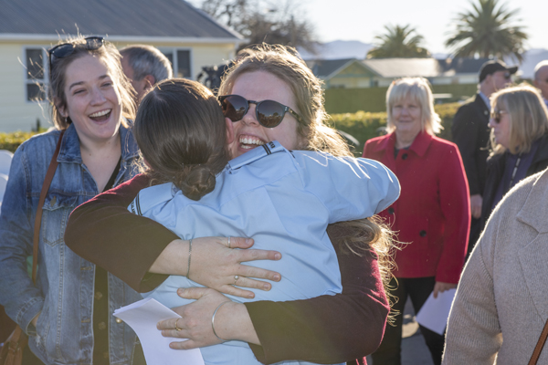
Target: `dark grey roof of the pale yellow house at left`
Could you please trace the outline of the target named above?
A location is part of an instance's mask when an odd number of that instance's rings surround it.
[[[183,0],[0,0],[0,37],[58,34],[129,38],[243,37]]]

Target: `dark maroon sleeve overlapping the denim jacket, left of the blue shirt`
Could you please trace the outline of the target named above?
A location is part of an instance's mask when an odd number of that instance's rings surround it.
[[[132,214],[127,207],[149,179],[132,180],[100,193],[77,207],[68,218],[65,243],[77,255],[118,276],[130,287],[147,292],[167,276],[148,273],[166,245],[179,238],[162,224]]]

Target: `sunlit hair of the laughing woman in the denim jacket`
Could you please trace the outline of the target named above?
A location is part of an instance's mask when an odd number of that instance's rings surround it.
[[[51,120],[58,130],[65,130],[72,122],[70,118],[65,119],[59,109],[67,110],[67,96],[65,95],[66,71],[68,66],[75,60],[87,55],[97,57],[107,67],[111,76],[114,88],[118,90],[121,103],[121,113],[127,119],[135,117],[135,104],[132,95],[134,90],[128,78],[125,77],[121,70],[120,52],[110,42],[104,41],[104,45],[99,49],[86,49],[84,36],[74,36],[62,41],[58,44],[71,43],[75,45],[75,49],[67,57],[53,57],[51,69],[49,70],[49,86],[47,88],[47,99],[51,105]],[[122,124],[127,127],[125,120],[121,120]]]

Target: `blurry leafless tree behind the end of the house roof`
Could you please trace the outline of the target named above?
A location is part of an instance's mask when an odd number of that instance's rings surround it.
[[[202,10],[248,39],[240,49],[260,43],[303,47],[317,45],[313,26],[293,0],[205,0]]]

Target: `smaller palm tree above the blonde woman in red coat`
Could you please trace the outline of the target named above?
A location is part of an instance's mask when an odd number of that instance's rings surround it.
[[[367,52],[367,58],[430,57],[427,48],[420,47],[424,37],[407,26],[385,26],[386,34],[375,36],[376,47]]]

